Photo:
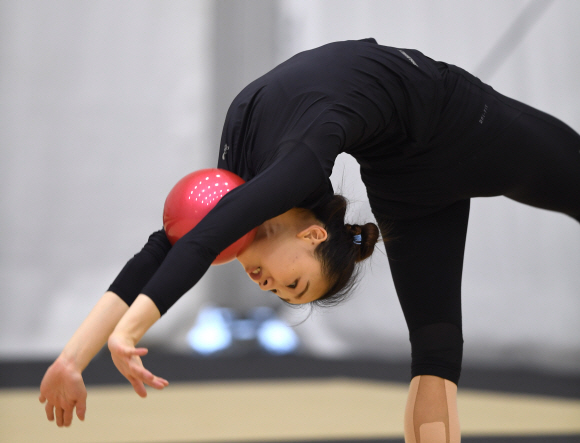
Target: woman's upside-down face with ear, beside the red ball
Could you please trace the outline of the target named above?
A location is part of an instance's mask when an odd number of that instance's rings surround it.
[[[258,228],[255,240],[237,257],[248,276],[260,289],[288,303],[304,304],[320,298],[328,284],[314,250],[326,240],[324,228],[312,225],[298,233],[268,228]]]

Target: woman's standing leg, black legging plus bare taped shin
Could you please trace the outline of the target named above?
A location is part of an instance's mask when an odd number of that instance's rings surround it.
[[[412,350],[406,443],[460,441],[456,395],[468,218],[469,200],[462,200],[426,217],[390,222],[384,229]]]

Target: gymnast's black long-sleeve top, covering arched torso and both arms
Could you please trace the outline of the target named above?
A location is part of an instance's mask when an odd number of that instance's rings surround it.
[[[442,66],[418,51],[366,39],[299,53],[249,84],[228,110],[217,165],[246,183],[173,247],[163,231],[153,234],[110,290],[128,304],[144,293],[164,313],[219,252],[252,228],[330,198],[338,154],[353,155],[362,171],[388,164],[404,170],[442,118],[457,118],[442,117],[448,101]],[[372,179],[365,183],[374,186]],[[379,187],[375,193],[388,192]],[[422,197],[417,190],[389,198],[414,203]]]

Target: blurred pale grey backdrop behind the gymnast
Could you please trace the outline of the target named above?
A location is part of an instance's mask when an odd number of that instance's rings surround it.
[[[58,355],[161,227],[171,187],[215,167],[231,100],[296,52],[365,37],[419,49],[578,131],[579,18],[566,0],[0,1],[0,359]],[[341,156],[332,179],[350,219],[372,220],[356,163]],[[143,342],[192,353],[199,314],[216,312],[290,325],[287,352],[410,359],[384,249],[326,311],[282,306],[237,262],[212,267]],[[475,199],[463,316],[466,365],[578,374],[578,224]]]

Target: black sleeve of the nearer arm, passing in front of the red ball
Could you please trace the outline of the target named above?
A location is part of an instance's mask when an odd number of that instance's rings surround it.
[[[225,195],[175,243],[142,293],[164,314],[222,250],[264,221],[322,195],[320,190],[327,186],[328,178],[309,147],[297,144],[281,151],[270,166]]]

